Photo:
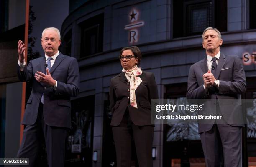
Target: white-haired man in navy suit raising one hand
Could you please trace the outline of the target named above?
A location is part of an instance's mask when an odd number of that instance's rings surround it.
[[[71,127],[70,97],[79,93],[79,67],[74,57],[58,48],[60,32],[50,27],[42,32],[43,57],[25,62],[25,50],[18,41],[18,77],[33,84],[22,124],[25,125],[18,158],[29,158],[33,167],[44,137],[49,167],[64,167],[65,138]],[[27,165],[26,165],[27,166]]]

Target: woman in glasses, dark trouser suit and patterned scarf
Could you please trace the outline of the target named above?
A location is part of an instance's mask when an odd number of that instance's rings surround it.
[[[134,138],[138,164],[152,167],[154,124],[151,122],[151,99],[158,99],[154,74],[142,71],[138,47],[124,47],[120,52],[123,70],[110,83],[111,126],[118,167],[130,167]]]

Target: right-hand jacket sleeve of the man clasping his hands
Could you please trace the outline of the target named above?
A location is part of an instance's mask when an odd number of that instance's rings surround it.
[[[220,94],[242,94],[246,92],[246,77],[239,57],[235,57],[233,64],[233,81],[220,80]]]

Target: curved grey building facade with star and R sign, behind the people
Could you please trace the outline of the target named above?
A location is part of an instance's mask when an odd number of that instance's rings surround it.
[[[118,55],[125,46],[140,48],[141,68],[154,73],[160,98],[182,100],[186,97],[189,67],[206,56],[202,32],[206,27],[216,27],[223,38],[220,52],[237,55],[245,67],[247,92],[242,97],[256,98],[253,0],[77,2],[80,5],[61,27],[61,52],[77,58],[81,78],[80,94],[72,100],[74,128],[67,150],[70,159],[78,156],[94,167],[116,165],[108,91],[110,78],[122,70]],[[181,133],[184,130],[187,134]],[[154,167],[203,166],[196,131],[196,125],[156,125]],[[256,157],[256,137],[248,135],[249,131],[254,133],[247,127],[241,134],[244,165],[253,164]],[[74,155],[72,148],[77,143],[82,143],[81,152]],[[135,154],[132,164],[137,166]]]

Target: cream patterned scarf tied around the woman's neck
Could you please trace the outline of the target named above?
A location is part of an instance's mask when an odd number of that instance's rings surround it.
[[[123,69],[122,72],[125,73],[127,80],[130,82],[130,105],[135,108],[138,108],[135,90],[142,82],[141,78],[138,77],[142,74],[141,68],[138,68],[136,65],[132,67],[130,70]]]

